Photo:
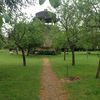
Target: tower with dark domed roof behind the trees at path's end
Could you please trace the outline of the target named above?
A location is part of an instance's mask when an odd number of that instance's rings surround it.
[[[47,23],[47,27],[50,27],[49,23],[52,23],[51,25],[54,25],[58,19],[56,18],[56,14],[48,11],[47,9],[45,9],[44,11],[40,11],[38,13],[36,13],[36,18],[40,19],[41,21]],[[48,28],[48,31],[50,30],[50,28]],[[45,34],[45,42],[44,45],[41,48],[38,48],[37,51],[40,54],[56,54],[56,50],[55,48],[52,48],[52,41],[49,39],[48,37],[48,33],[46,32]]]

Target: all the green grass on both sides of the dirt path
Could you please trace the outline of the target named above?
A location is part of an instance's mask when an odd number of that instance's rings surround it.
[[[71,54],[49,56],[52,69],[59,79],[79,76],[80,80],[66,83],[68,100],[99,100],[100,79],[95,79],[98,57],[95,52],[87,56],[76,53],[76,65],[71,66]],[[22,66],[20,55],[0,51],[0,100],[39,100],[41,56],[27,57],[27,66]],[[67,73],[68,67],[68,73]]]

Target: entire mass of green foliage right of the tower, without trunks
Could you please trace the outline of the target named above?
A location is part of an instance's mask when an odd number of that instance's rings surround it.
[[[100,1],[69,0],[58,9],[62,29],[70,47],[83,46],[85,49],[99,47],[100,34]]]

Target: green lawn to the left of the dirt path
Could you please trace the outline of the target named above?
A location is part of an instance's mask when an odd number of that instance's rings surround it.
[[[41,57],[27,57],[0,51],[0,100],[39,100]]]

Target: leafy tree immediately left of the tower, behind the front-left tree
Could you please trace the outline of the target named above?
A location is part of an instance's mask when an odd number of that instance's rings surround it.
[[[27,34],[27,55],[29,55],[31,49],[35,49],[43,45],[44,42],[44,23],[38,19],[33,19],[28,25]]]

